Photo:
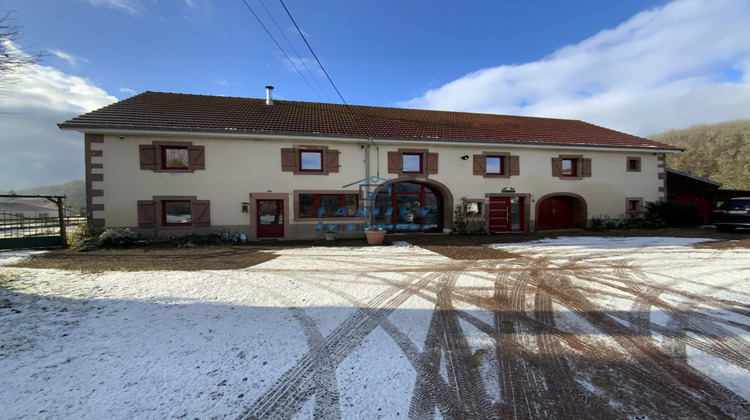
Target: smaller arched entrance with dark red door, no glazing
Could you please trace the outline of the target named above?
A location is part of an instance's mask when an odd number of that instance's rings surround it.
[[[582,229],[586,227],[586,200],[570,194],[550,194],[539,199],[536,206],[536,228]]]

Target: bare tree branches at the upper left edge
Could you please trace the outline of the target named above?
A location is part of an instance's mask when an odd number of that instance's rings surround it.
[[[21,28],[12,12],[0,11],[0,89],[13,84],[16,70],[37,63],[42,53],[25,52],[16,45]]]

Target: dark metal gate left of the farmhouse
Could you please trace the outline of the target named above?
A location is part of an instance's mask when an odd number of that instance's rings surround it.
[[[0,249],[67,246],[65,196],[0,195],[14,199],[46,199],[49,208],[21,203],[0,203]]]

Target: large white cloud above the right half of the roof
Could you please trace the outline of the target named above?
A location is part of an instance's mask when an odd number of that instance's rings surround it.
[[[676,0],[539,61],[479,70],[399,105],[573,118],[639,135],[750,118],[749,21],[745,0]]]

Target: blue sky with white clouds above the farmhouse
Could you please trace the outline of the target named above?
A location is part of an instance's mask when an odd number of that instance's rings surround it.
[[[273,85],[276,99],[340,103],[281,3],[245,2],[0,0],[22,26],[17,46],[46,53],[0,94],[0,190],[82,179],[83,136],[55,124],[146,90],[263,97]],[[285,4],[349,104],[641,136],[750,118],[747,0]]]

